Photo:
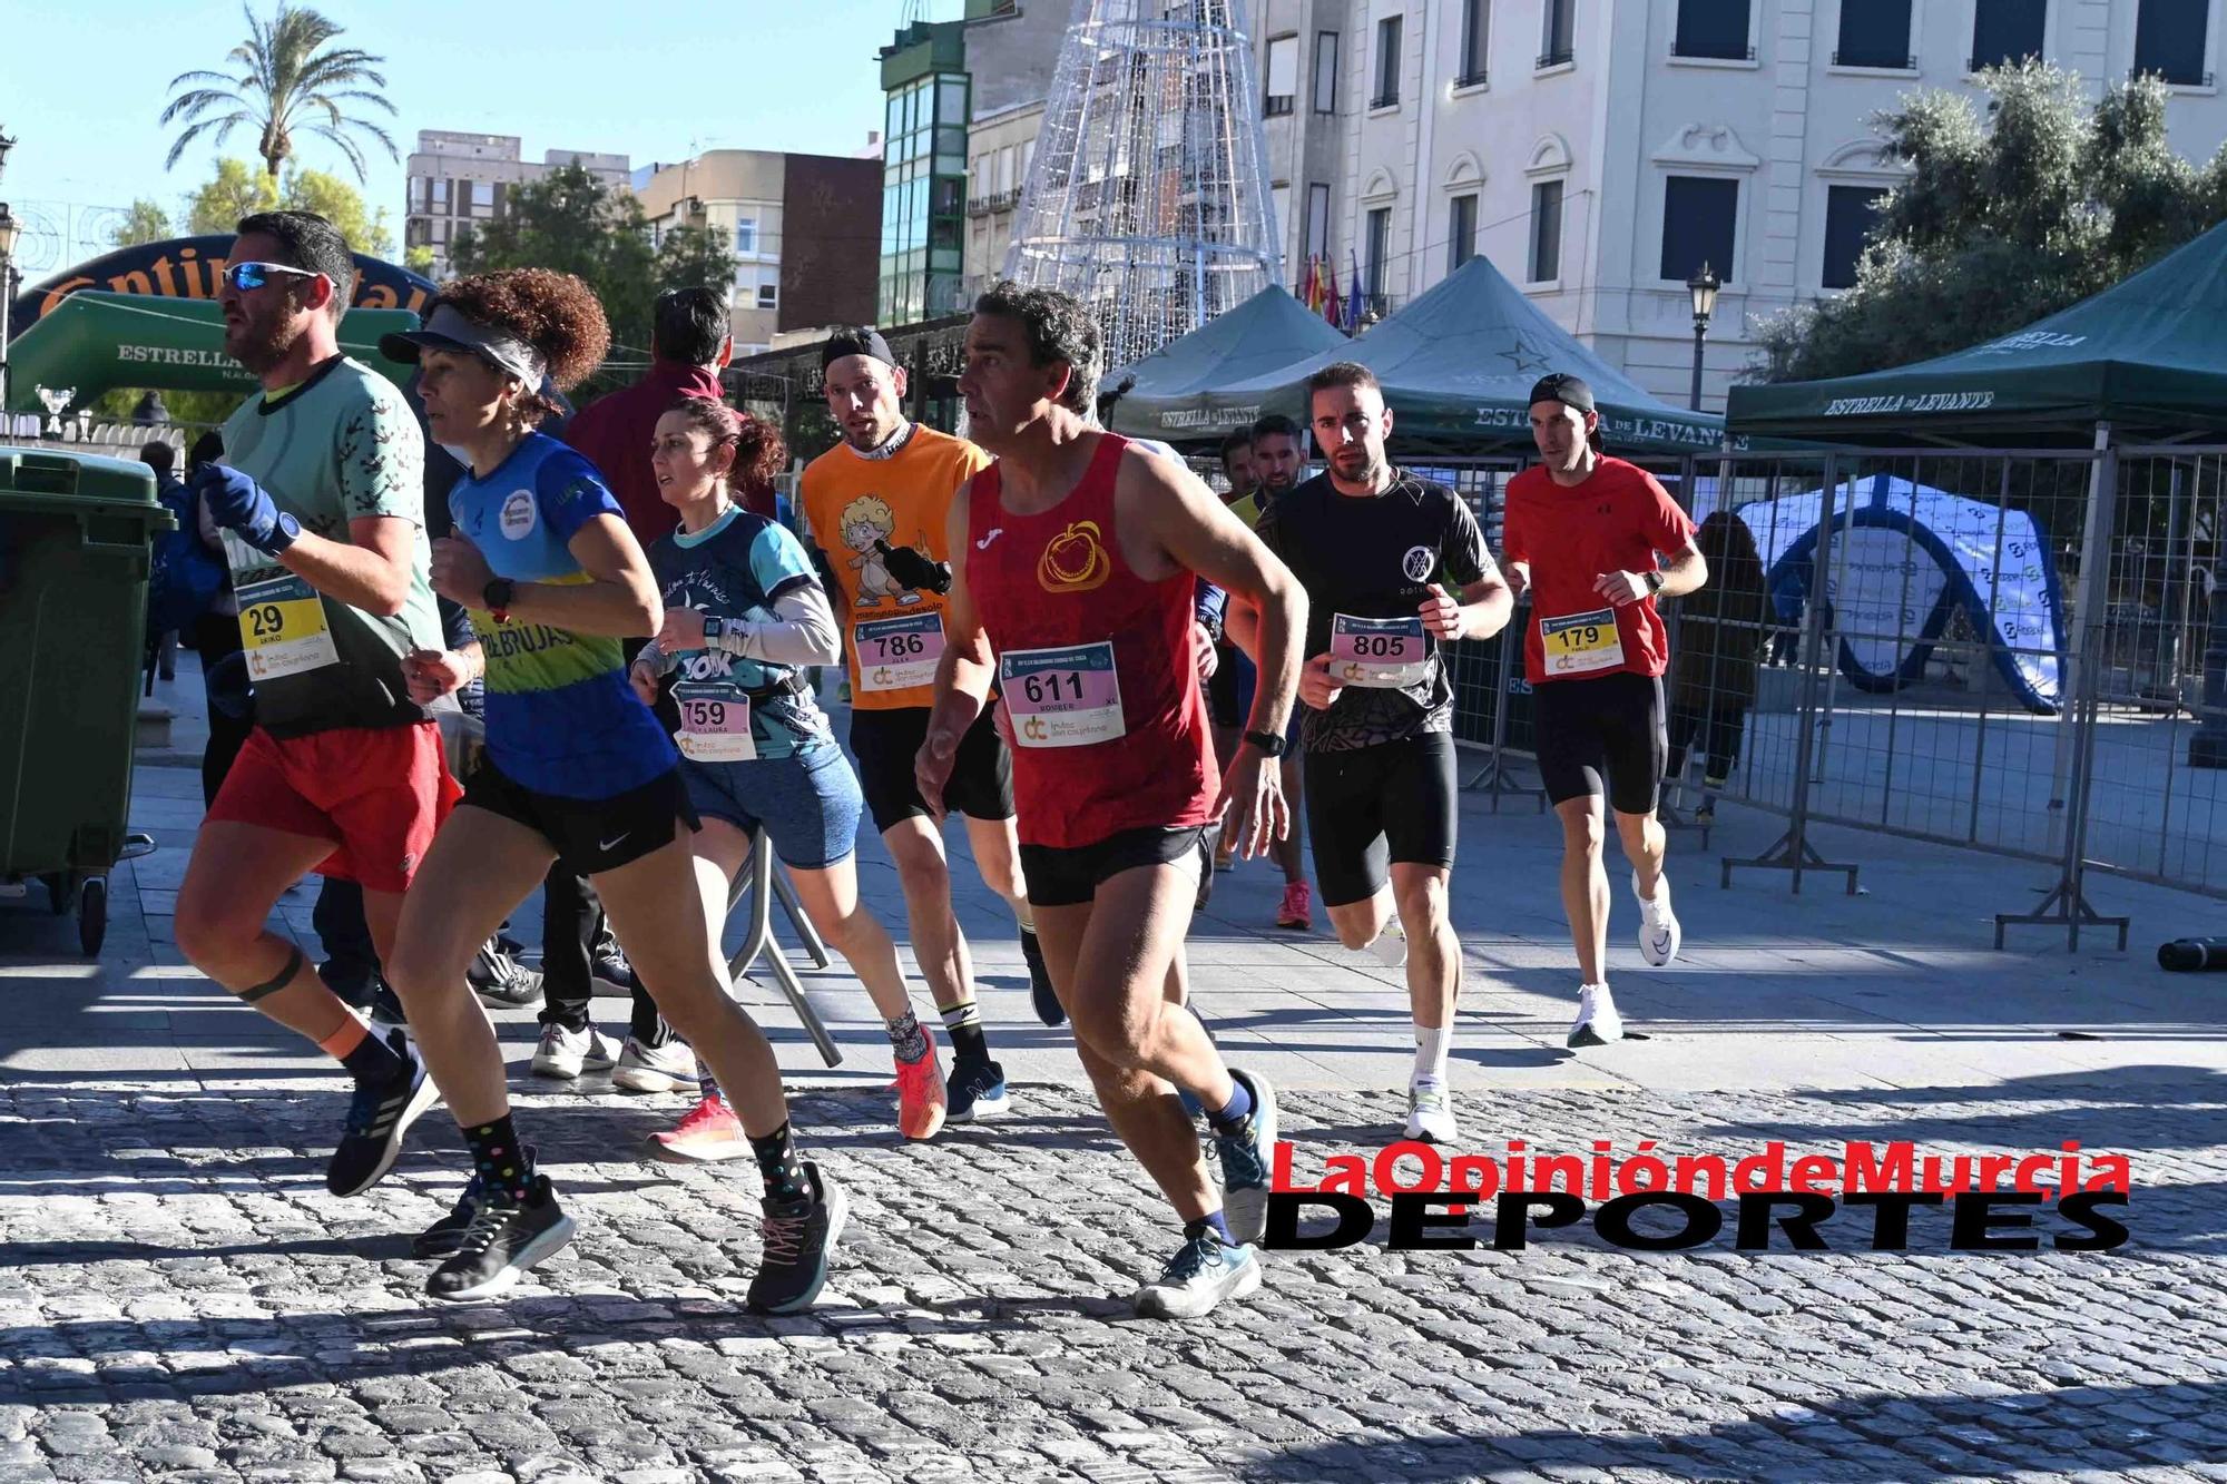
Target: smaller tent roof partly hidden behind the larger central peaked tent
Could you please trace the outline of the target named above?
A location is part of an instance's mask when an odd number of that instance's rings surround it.
[[[1176,443],[1220,437],[1252,423],[1254,414],[1216,401],[1218,385],[1345,350],[1347,343],[1321,314],[1269,285],[1142,361],[1111,372],[1105,390],[1136,377],[1136,385],[1114,403],[1111,428],[1127,437]]]

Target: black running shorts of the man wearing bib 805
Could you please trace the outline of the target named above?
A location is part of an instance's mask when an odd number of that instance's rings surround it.
[[[1303,784],[1314,880],[1325,907],[1376,896],[1390,880],[1390,862],[1454,865],[1450,733],[1307,753]]]

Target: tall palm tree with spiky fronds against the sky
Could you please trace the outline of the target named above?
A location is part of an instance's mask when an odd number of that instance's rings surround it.
[[[247,40],[225,58],[238,65],[238,76],[187,71],[169,82],[171,89],[192,87],[171,98],[171,105],[163,109],[163,123],[176,118],[192,127],[169,147],[163,169],[174,167],[187,145],[209,129],[216,131],[214,143],[223,145],[243,123],[263,136],[256,143],[256,154],[263,156],[272,185],[278,183],[278,167],[294,156],[296,127],[336,145],[356,169],[356,180],[365,178],[363,147],[350,136],[352,131],[370,134],[390,158],[403,158],[385,129],[343,107],[363,105],[365,109],[394,111],[394,105],[383,96],[363,89],[363,85],[387,85],[385,76],[376,71],[385,65],[383,56],[352,47],[327,49],[325,42],[336,38],[341,27],[316,11],[287,4],[287,0],[278,0],[278,13],[269,22],[256,20],[247,7],[241,9],[247,13]]]

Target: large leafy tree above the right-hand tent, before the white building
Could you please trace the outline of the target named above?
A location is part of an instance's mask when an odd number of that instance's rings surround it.
[[[1911,174],[1877,207],[1855,287],[1757,332],[1755,381],[1906,365],[2009,334],[2142,270],[2227,216],[2227,149],[2198,169],[2165,138],[2156,76],[2089,107],[2042,62],[1915,94],[1873,118]]]

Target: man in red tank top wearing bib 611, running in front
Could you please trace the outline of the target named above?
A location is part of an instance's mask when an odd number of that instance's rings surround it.
[[[953,586],[920,793],[942,798],[995,680],[1013,733],[1020,860],[1051,985],[1098,1103],[1183,1219],[1138,1288],[1189,1319],[1260,1286],[1276,1094],[1232,1072],[1180,1005],[1200,833],[1258,856],[1292,827],[1285,717],[1307,599],[1276,557],[1171,459],[1087,421],[1098,328],[1051,290],[1000,283],[967,330],[969,435],[995,463],[951,501]],[[1260,684],[1218,775],[1191,655],[1194,579],[1260,613]],[[1176,1090],[1207,1110],[1227,1203]]]

